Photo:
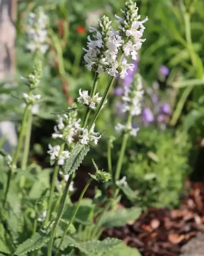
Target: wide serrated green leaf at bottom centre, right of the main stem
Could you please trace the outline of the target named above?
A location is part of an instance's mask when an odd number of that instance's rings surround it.
[[[66,236],[66,240],[68,246],[76,247],[85,254],[98,254],[99,252],[110,251],[122,243],[122,240],[117,238],[106,238],[102,241],[88,240],[86,242],[81,242],[77,238],[73,238],[73,236]]]

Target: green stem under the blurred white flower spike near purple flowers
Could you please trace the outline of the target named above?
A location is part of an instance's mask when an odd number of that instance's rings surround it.
[[[126,127],[128,127],[129,125],[131,125],[131,122],[132,122],[132,115],[131,113],[129,112],[129,116],[128,116],[128,120],[127,120],[127,123],[126,123]],[[120,149],[120,154],[119,154],[119,157],[118,157],[118,163],[117,163],[117,166],[116,166],[116,171],[115,171],[115,182],[119,179],[120,177],[120,172],[121,172],[121,168],[122,168],[122,163],[123,163],[123,159],[124,159],[124,153],[125,153],[125,149],[126,149],[126,145],[127,145],[127,140],[129,138],[129,133],[126,132],[124,135],[123,135],[123,139],[122,139],[122,145],[121,145],[121,149]],[[115,186],[114,186],[114,190],[115,190]],[[116,193],[115,192],[115,195],[114,197],[116,196]]]

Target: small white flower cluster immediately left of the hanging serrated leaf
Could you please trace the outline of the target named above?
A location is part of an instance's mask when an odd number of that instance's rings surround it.
[[[48,154],[50,154],[50,160],[58,160],[58,165],[64,165],[64,160],[69,157],[69,151],[62,151],[60,154],[60,145],[52,146],[48,145],[49,150]]]

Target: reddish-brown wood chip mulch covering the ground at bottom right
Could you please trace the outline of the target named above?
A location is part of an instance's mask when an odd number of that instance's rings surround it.
[[[122,239],[143,256],[176,256],[181,247],[204,231],[204,183],[190,183],[180,209],[150,208],[138,220],[121,228],[104,229],[102,238]]]

